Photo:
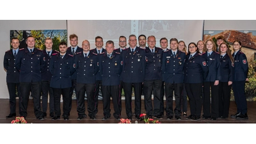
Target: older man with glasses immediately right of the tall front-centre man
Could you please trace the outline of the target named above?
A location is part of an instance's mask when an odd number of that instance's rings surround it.
[[[146,53],[145,79],[144,79],[144,99],[148,118],[152,116],[163,118],[160,114],[161,106],[161,86],[162,86],[162,56],[163,49],[156,47],[156,37],[151,35],[147,38],[148,47]],[[154,95],[154,108],[152,106],[152,92]]]

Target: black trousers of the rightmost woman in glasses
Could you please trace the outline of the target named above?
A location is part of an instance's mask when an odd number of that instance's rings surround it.
[[[237,113],[247,113],[247,101],[244,92],[245,81],[233,81],[232,89],[237,106]]]

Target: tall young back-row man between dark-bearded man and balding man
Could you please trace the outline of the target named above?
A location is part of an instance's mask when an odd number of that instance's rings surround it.
[[[69,36],[69,41],[70,41],[70,47],[68,47],[67,49],[67,53],[68,54],[71,54],[73,56],[75,56],[75,54],[77,52],[81,52],[83,51],[83,49],[81,47],[79,47],[77,44],[78,44],[78,36],[76,34],[72,34]],[[71,76],[71,80],[72,80],[72,86],[70,88],[70,92],[69,92],[69,101],[70,101],[70,104],[69,104],[69,111],[71,111],[71,108],[72,108],[72,95],[73,95],[73,92],[75,90],[75,93],[77,95],[77,91],[76,91],[76,77],[77,77],[77,72],[74,72],[74,74],[72,74]],[[69,115],[69,113],[68,113]]]

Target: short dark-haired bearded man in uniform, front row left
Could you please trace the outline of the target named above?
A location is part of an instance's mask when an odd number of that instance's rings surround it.
[[[68,120],[70,113],[70,88],[71,76],[76,70],[74,57],[67,53],[67,43],[61,42],[59,44],[60,53],[52,54],[50,60],[50,72],[52,73],[51,84],[54,95],[54,117],[52,120],[60,119],[60,97],[63,97],[63,118]]]

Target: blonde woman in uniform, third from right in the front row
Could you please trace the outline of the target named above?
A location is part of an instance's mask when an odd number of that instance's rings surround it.
[[[219,83],[221,80],[220,54],[216,52],[213,40],[205,42],[205,51],[209,73],[204,81],[203,111],[204,119],[217,120],[219,117]]]

